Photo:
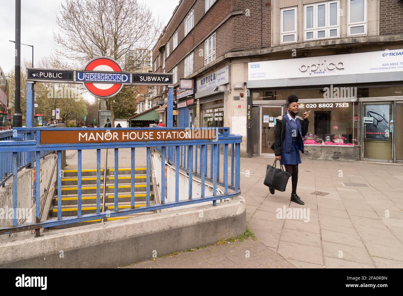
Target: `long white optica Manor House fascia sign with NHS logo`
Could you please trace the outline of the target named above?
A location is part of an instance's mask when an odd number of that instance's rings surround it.
[[[403,49],[248,63],[248,80],[403,71]]]

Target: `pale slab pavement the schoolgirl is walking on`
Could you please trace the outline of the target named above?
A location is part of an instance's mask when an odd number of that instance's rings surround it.
[[[129,167],[130,149],[123,150],[119,150],[119,167]],[[83,168],[95,166],[89,160],[94,155],[95,151],[83,151]],[[68,151],[67,159],[73,167],[76,152]],[[145,148],[137,148],[136,166],[144,165],[144,160]],[[298,205],[290,202],[291,180],[285,192],[274,195],[263,184],[266,166],[273,161],[241,157],[247,227],[256,241],[207,246],[130,267],[403,267],[402,165],[303,160],[297,194],[305,205]],[[110,150],[108,165],[112,164]],[[221,175],[222,168],[221,164]]]

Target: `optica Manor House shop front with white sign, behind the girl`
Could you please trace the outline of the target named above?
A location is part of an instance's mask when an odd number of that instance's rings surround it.
[[[403,160],[403,50],[250,62],[248,69],[252,155],[274,156],[276,117],[295,94],[299,115],[311,111],[304,158]]]

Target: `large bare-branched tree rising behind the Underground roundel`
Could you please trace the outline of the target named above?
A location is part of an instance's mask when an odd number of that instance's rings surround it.
[[[55,51],[73,60],[73,66],[83,68],[92,58],[107,56],[124,65],[124,71],[134,72],[143,67],[145,55],[127,59],[126,53],[151,50],[162,29],[150,8],[137,0],[65,0],[56,22]],[[114,98],[106,104],[114,120]]]

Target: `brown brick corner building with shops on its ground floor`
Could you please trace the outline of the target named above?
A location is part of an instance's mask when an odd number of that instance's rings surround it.
[[[174,73],[178,126],[228,126],[244,155],[273,155],[275,118],[295,93],[311,110],[303,157],[397,162],[402,54],[403,1],[181,0],[152,66]]]

